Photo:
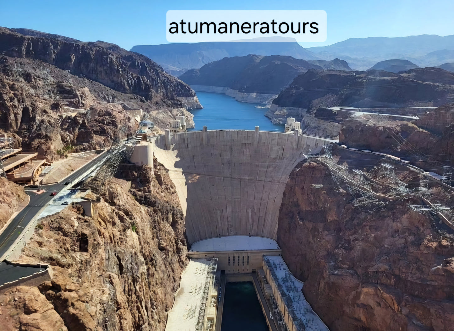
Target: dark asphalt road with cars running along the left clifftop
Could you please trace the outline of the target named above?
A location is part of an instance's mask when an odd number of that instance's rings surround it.
[[[64,183],[76,180],[80,175],[89,170],[89,168],[93,167],[94,162],[101,161],[108,154],[109,153],[103,153],[98,157],[94,158],[79,170],[74,171],[71,175],[62,180],[60,183],[44,186],[44,188],[47,189],[47,192],[41,194],[27,192],[27,194],[30,196],[30,203],[24,209],[22,209],[22,211],[19,212],[19,214],[16,215],[16,217],[10,222],[5,231],[3,231],[0,235],[0,257],[3,257],[3,255],[5,255],[8,249],[14,244],[17,237],[19,237],[20,233],[24,231],[24,229],[30,223],[32,218],[35,217],[35,215],[52,198],[54,198],[53,196],[50,195],[52,192],[58,193],[65,187],[70,186],[71,184],[64,185]]]

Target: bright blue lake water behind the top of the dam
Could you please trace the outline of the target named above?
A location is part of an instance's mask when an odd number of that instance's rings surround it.
[[[225,94],[197,92],[197,97],[203,109],[194,109],[195,128],[202,130],[206,125],[208,130],[254,130],[258,125],[261,131],[284,132],[283,124],[272,124],[265,117],[267,108],[256,108],[257,104],[239,102]]]

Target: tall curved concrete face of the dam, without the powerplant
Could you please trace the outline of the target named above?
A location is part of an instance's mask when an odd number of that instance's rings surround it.
[[[303,154],[329,141],[246,130],[166,133],[151,139],[168,168],[183,212],[189,244],[218,236],[276,239],[282,194]]]

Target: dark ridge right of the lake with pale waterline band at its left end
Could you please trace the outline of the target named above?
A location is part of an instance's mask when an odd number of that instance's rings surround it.
[[[319,107],[439,106],[450,100],[454,87],[449,72],[440,75],[434,70],[439,69],[412,69],[401,74],[309,69],[281,91],[266,116],[278,123],[290,116],[301,120],[305,113],[314,117]]]

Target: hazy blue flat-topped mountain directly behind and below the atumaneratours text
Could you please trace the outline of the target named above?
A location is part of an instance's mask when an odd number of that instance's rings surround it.
[[[193,44],[138,45],[131,51],[147,56],[169,73],[178,76],[188,69],[225,57],[259,55],[288,55],[295,59],[320,59],[296,42],[207,42]],[[332,59],[332,58],[331,58]]]

